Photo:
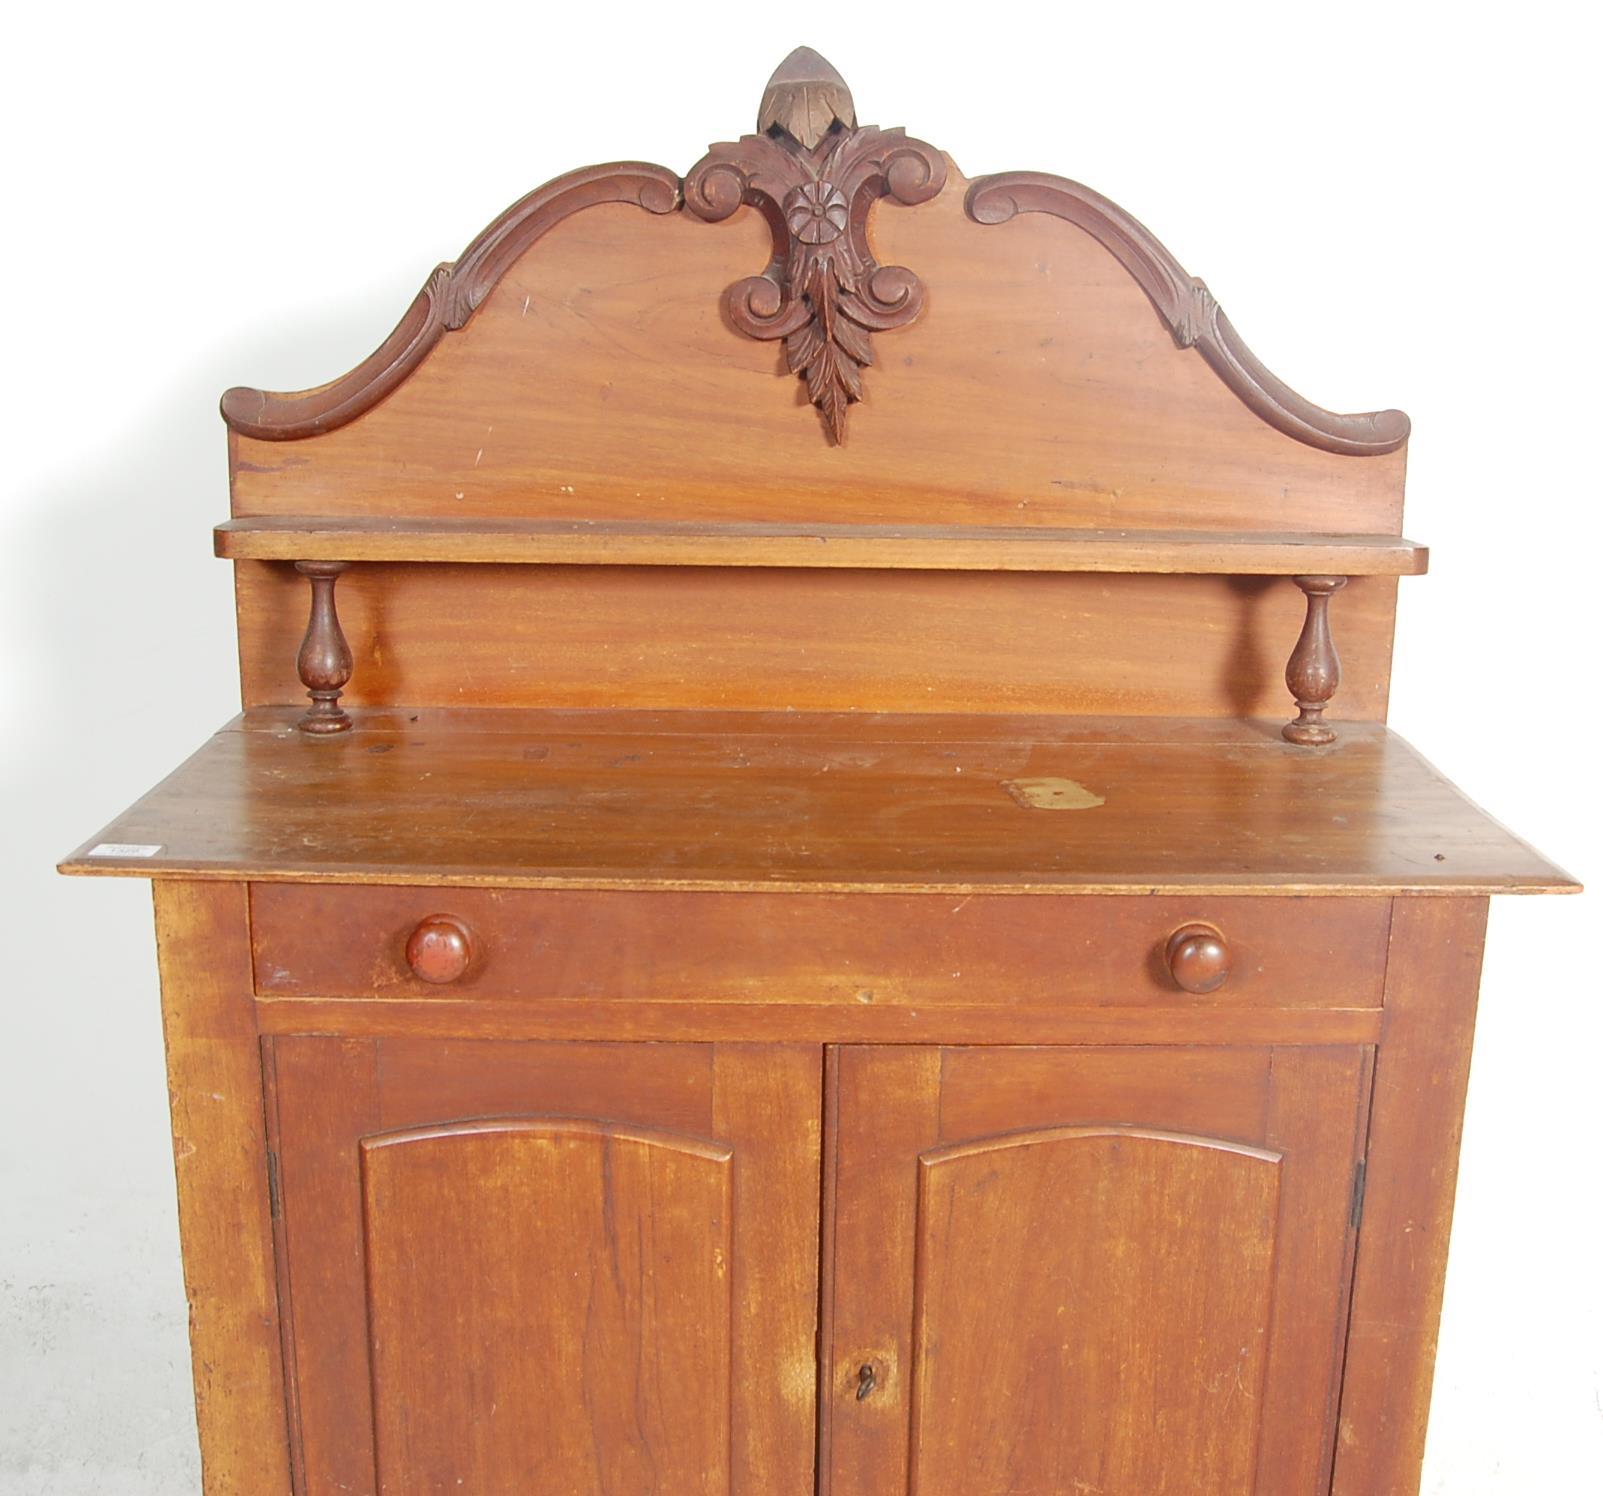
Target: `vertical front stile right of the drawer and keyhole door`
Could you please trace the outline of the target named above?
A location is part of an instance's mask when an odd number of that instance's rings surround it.
[[[1398,900],[1334,1496],[1419,1490],[1486,900]]]

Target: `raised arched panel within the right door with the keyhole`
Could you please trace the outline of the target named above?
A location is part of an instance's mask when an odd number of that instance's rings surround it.
[[[1135,1127],[922,1154],[919,1496],[1074,1491],[1092,1470],[1191,1496],[1175,1450],[1250,1490],[1279,1171],[1273,1151]]]

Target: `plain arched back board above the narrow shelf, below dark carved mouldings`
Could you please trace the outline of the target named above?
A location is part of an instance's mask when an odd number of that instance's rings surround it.
[[[769,258],[757,208],[601,204],[349,425],[236,435],[234,513],[1398,532],[1401,449],[1276,431],[1095,239],[1040,213],[975,223],[951,176],[870,215],[877,260],[928,301],[878,340],[845,446],[826,447],[776,345],[725,317],[725,289]]]

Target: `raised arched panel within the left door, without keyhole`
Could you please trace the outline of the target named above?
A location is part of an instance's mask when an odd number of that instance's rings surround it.
[[[382,1491],[728,1491],[728,1145],[507,1118],[359,1150]]]

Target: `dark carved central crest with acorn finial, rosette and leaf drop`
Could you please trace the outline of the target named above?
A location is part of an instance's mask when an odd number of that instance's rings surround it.
[[[758,135],[713,146],[684,178],[684,205],[709,223],[750,204],[768,220],[774,255],[725,293],[729,321],[752,338],[784,338],[785,364],[806,382],[834,443],[862,398],[869,335],[902,327],[923,285],[869,249],[880,197],[912,205],[946,186],[946,160],[901,130],[858,127],[851,93],[816,51],[798,46],[768,80]]]

